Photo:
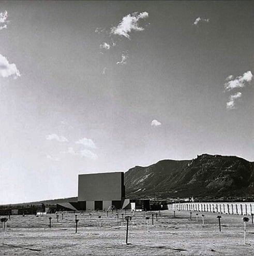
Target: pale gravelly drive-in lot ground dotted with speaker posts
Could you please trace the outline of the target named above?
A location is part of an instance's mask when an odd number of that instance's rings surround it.
[[[122,213],[89,212],[11,216],[7,232],[1,230],[0,255],[251,255],[254,246],[254,224],[247,223],[244,245],[242,216],[221,214],[221,232],[217,214],[165,210],[135,212],[130,221],[126,245],[126,221]],[[152,225],[152,213],[154,225]],[[156,213],[158,221],[156,221]],[[204,225],[202,217],[204,216]],[[101,215],[99,219],[98,216]],[[127,212],[127,215],[131,215]],[[146,216],[150,217],[147,220]],[[51,228],[49,217],[52,217]],[[100,223],[101,221],[101,223]],[[101,225],[101,226],[100,226]]]

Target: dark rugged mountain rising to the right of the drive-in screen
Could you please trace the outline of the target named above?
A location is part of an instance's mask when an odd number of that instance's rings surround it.
[[[161,160],[125,173],[128,198],[254,197],[254,162],[203,154],[192,160]]]

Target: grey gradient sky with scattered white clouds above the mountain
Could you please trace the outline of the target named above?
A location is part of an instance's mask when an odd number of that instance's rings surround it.
[[[253,1],[1,1],[0,204],[78,174],[254,161]]]

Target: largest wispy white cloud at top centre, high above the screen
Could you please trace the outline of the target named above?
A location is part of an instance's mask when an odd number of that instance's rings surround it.
[[[122,21],[115,27],[111,28],[111,34],[124,36],[130,39],[129,33],[131,31],[143,31],[144,28],[138,25],[140,19],[145,19],[148,17],[148,12],[133,12],[133,14],[128,14],[123,17]]]

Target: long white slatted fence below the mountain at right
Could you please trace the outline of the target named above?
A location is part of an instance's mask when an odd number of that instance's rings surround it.
[[[169,210],[218,212],[226,214],[251,215],[254,204],[241,203],[177,203],[168,205]]]

